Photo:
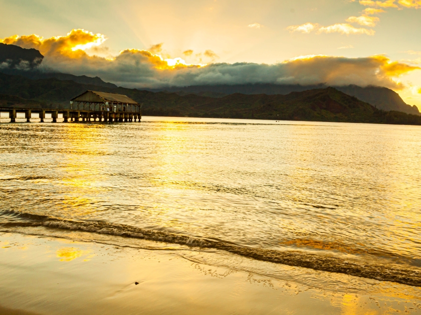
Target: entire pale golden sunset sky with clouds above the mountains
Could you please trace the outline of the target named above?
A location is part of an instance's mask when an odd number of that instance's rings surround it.
[[[0,7],[0,41],[39,49],[48,69],[140,88],[374,84],[421,109],[421,0],[0,0]]]

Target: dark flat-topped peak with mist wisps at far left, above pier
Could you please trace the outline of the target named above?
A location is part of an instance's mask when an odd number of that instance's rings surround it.
[[[0,69],[5,67],[34,68],[43,60],[44,56],[37,49],[21,48],[0,42]]]

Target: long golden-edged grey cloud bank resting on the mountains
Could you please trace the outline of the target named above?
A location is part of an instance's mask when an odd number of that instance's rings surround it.
[[[311,28],[309,26],[309,28]],[[319,28],[320,29],[320,28]],[[164,58],[158,53],[162,43],[150,50],[124,49],[106,58],[90,55],[85,50],[98,47],[106,40],[103,34],[73,29],[65,36],[44,39],[36,34],[14,35],[0,42],[24,48],[36,48],[45,56],[40,67],[75,75],[99,76],[126,87],[162,87],[206,84],[357,84],[402,88],[399,76],[420,69],[384,55],[362,58],[308,55],[275,64],[237,62],[189,64],[182,58]],[[185,50],[189,55],[192,50]],[[215,57],[212,50],[204,55]]]

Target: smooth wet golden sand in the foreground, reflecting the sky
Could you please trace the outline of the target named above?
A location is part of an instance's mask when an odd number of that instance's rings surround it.
[[[421,296],[398,290],[333,292],[171,250],[10,232],[0,233],[0,278],[0,314],[421,313]]]

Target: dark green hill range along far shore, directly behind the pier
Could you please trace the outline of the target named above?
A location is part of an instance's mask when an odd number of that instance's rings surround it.
[[[32,80],[0,73],[0,93],[8,94],[0,95],[3,106],[22,107],[33,102],[33,105],[42,107],[69,108],[69,100],[86,90],[125,94],[143,104],[144,115],[421,125],[419,115],[384,111],[333,87],[291,92],[287,95],[234,93],[215,98],[124,87],[108,88],[57,78]]]

